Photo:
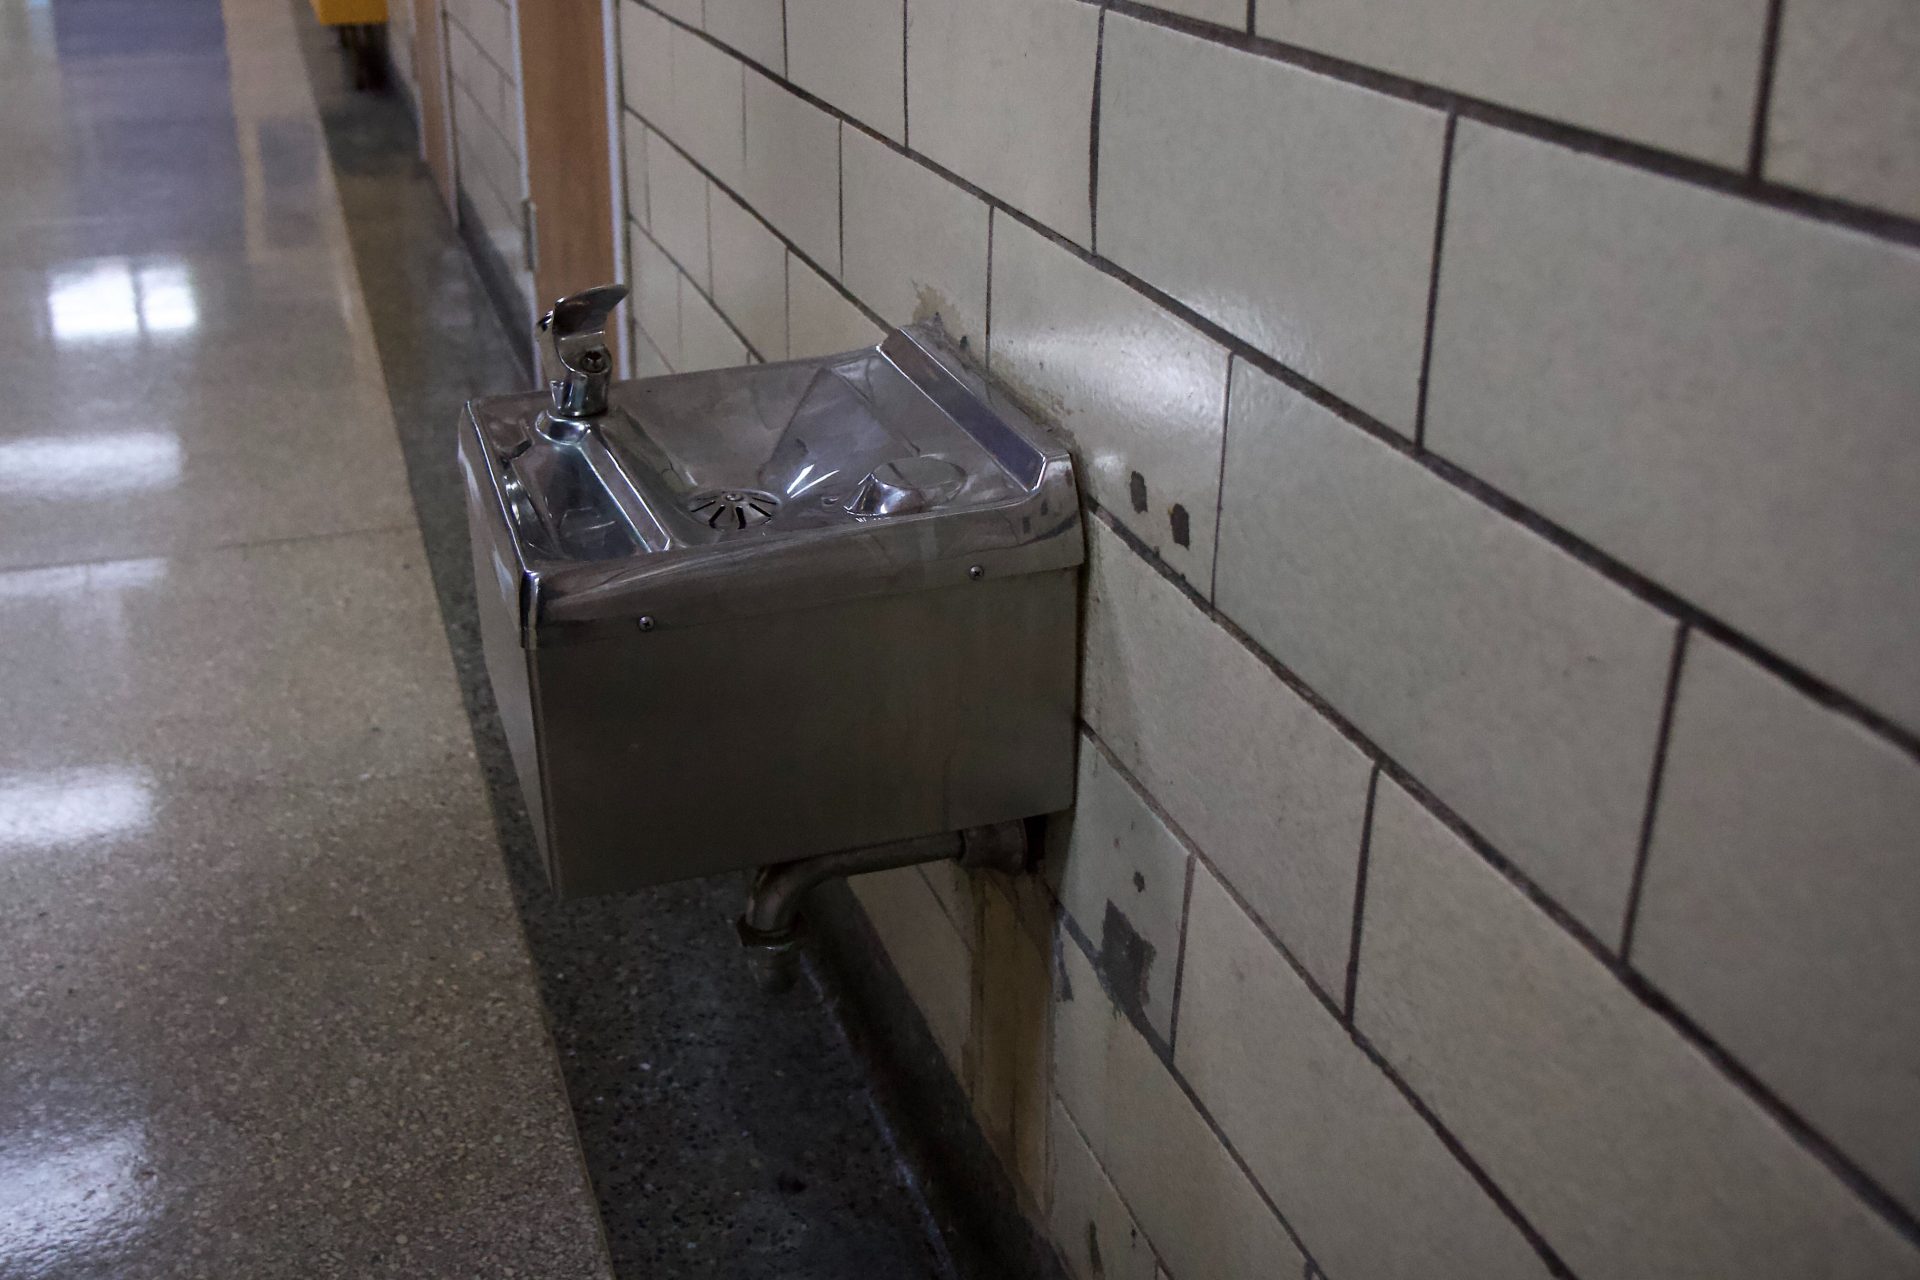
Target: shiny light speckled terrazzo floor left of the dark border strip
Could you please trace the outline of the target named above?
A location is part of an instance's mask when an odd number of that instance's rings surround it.
[[[0,0],[0,1274],[611,1274],[288,0]]]

